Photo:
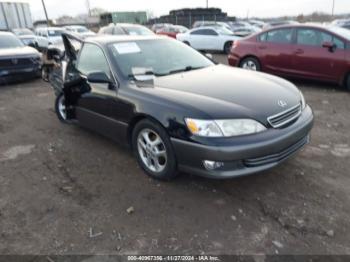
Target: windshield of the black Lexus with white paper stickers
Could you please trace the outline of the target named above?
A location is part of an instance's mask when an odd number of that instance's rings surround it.
[[[142,74],[136,72],[163,76],[214,65],[191,47],[170,39],[119,42],[109,49],[112,60],[129,78]]]

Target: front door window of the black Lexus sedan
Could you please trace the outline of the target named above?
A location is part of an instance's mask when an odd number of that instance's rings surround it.
[[[96,71],[103,71],[108,76],[111,74],[102,49],[94,44],[84,44],[80,52],[77,69],[84,75]]]

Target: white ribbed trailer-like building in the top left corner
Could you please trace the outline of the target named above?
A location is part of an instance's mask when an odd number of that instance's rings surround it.
[[[14,28],[33,28],[29,4],[0,1],[0,30]]]

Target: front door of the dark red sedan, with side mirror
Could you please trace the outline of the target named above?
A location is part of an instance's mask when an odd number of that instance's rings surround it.
[[[334,48],[323,47],[324,43]],[[314,28],[298,28],[294,49],[295,73],[308,78],[338,81],[344,73],[345,42],[333,34]]]

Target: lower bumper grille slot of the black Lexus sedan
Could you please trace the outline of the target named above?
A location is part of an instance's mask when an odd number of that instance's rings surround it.
[[[309,142],[309,136],[306,136],[299,142],[293,144],[292,146],[288,147],[287,149],[283,150],[280,153],[272,154],[264,157],[246,159],[244,160],[244,164],[247,167],[258,167],[258,166],[264,166],[272,163],[281,162],[287,159],[288,157],[290,157],[293,153],[295,153],[299,149],[301,149],[308,142]]]

